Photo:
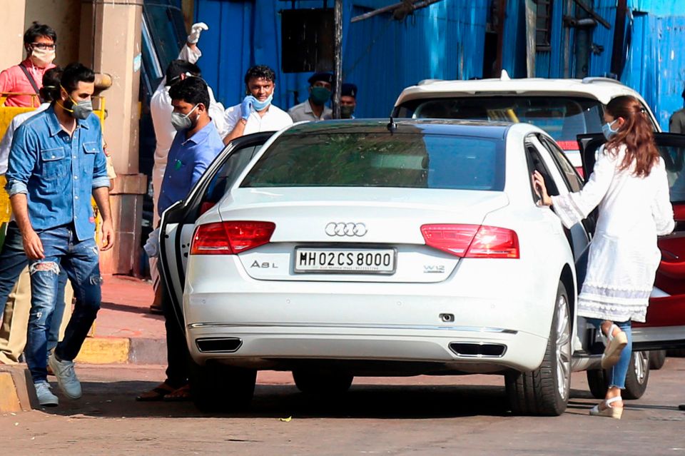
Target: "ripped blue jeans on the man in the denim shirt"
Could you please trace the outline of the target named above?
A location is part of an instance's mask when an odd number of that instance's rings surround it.
[[[55,308],[59,265],[66,271],[76,297],[64,339],[55,355],[72,361],[95,321],[101,303],[101,276],[98,247],[93,238],[79,241],[73,226],[51,228],[38,233],[43,243],[41,260],[29,261],[31,274],[31,314],[26,341],[26,364],[35,382],[47,379],[47,329]]]

